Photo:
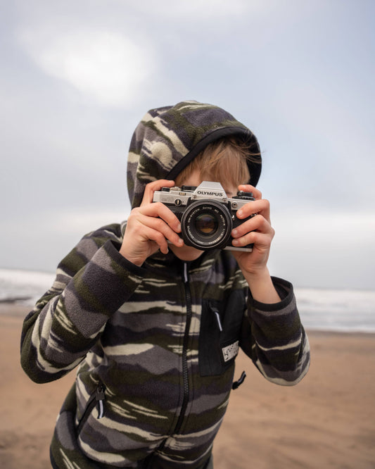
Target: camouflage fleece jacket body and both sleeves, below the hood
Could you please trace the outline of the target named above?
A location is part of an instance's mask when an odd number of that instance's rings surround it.
[[[118,252],[125,227],[83,237],[25,319],[21,363],[32,380],[77,367],[51,461],[65,469],[203,469],[239,348],[276,384],[307,373],[293,289],[274,278],[281,302],[254,301],[228,251],[193,263],[157,254],[139,268]]]

